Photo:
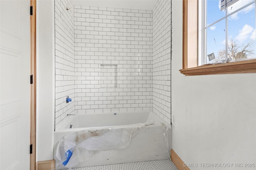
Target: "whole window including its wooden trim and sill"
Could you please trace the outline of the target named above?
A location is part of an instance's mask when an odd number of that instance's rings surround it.
[[[184,34],[181,73],[185,75],[256,73],[256,59],[253,59],[256,56],[255,0],[240,1],[224,9],[223,12],[219,9],[220,1],[218,0],[208,0],[208,3],[183,0]],[[251,20],[248,20],[248,11],[252,16]],[[240,21],[237,17],[241,17]],[[223,32],[220,31],[222,28]],[[246,45],[249,45],[250,50]],[[226,63],[225,60],[228,58],[235,62]],[[241,61],[241,59],[246,60]],[[217,62],[218,64],[205,65]]]

